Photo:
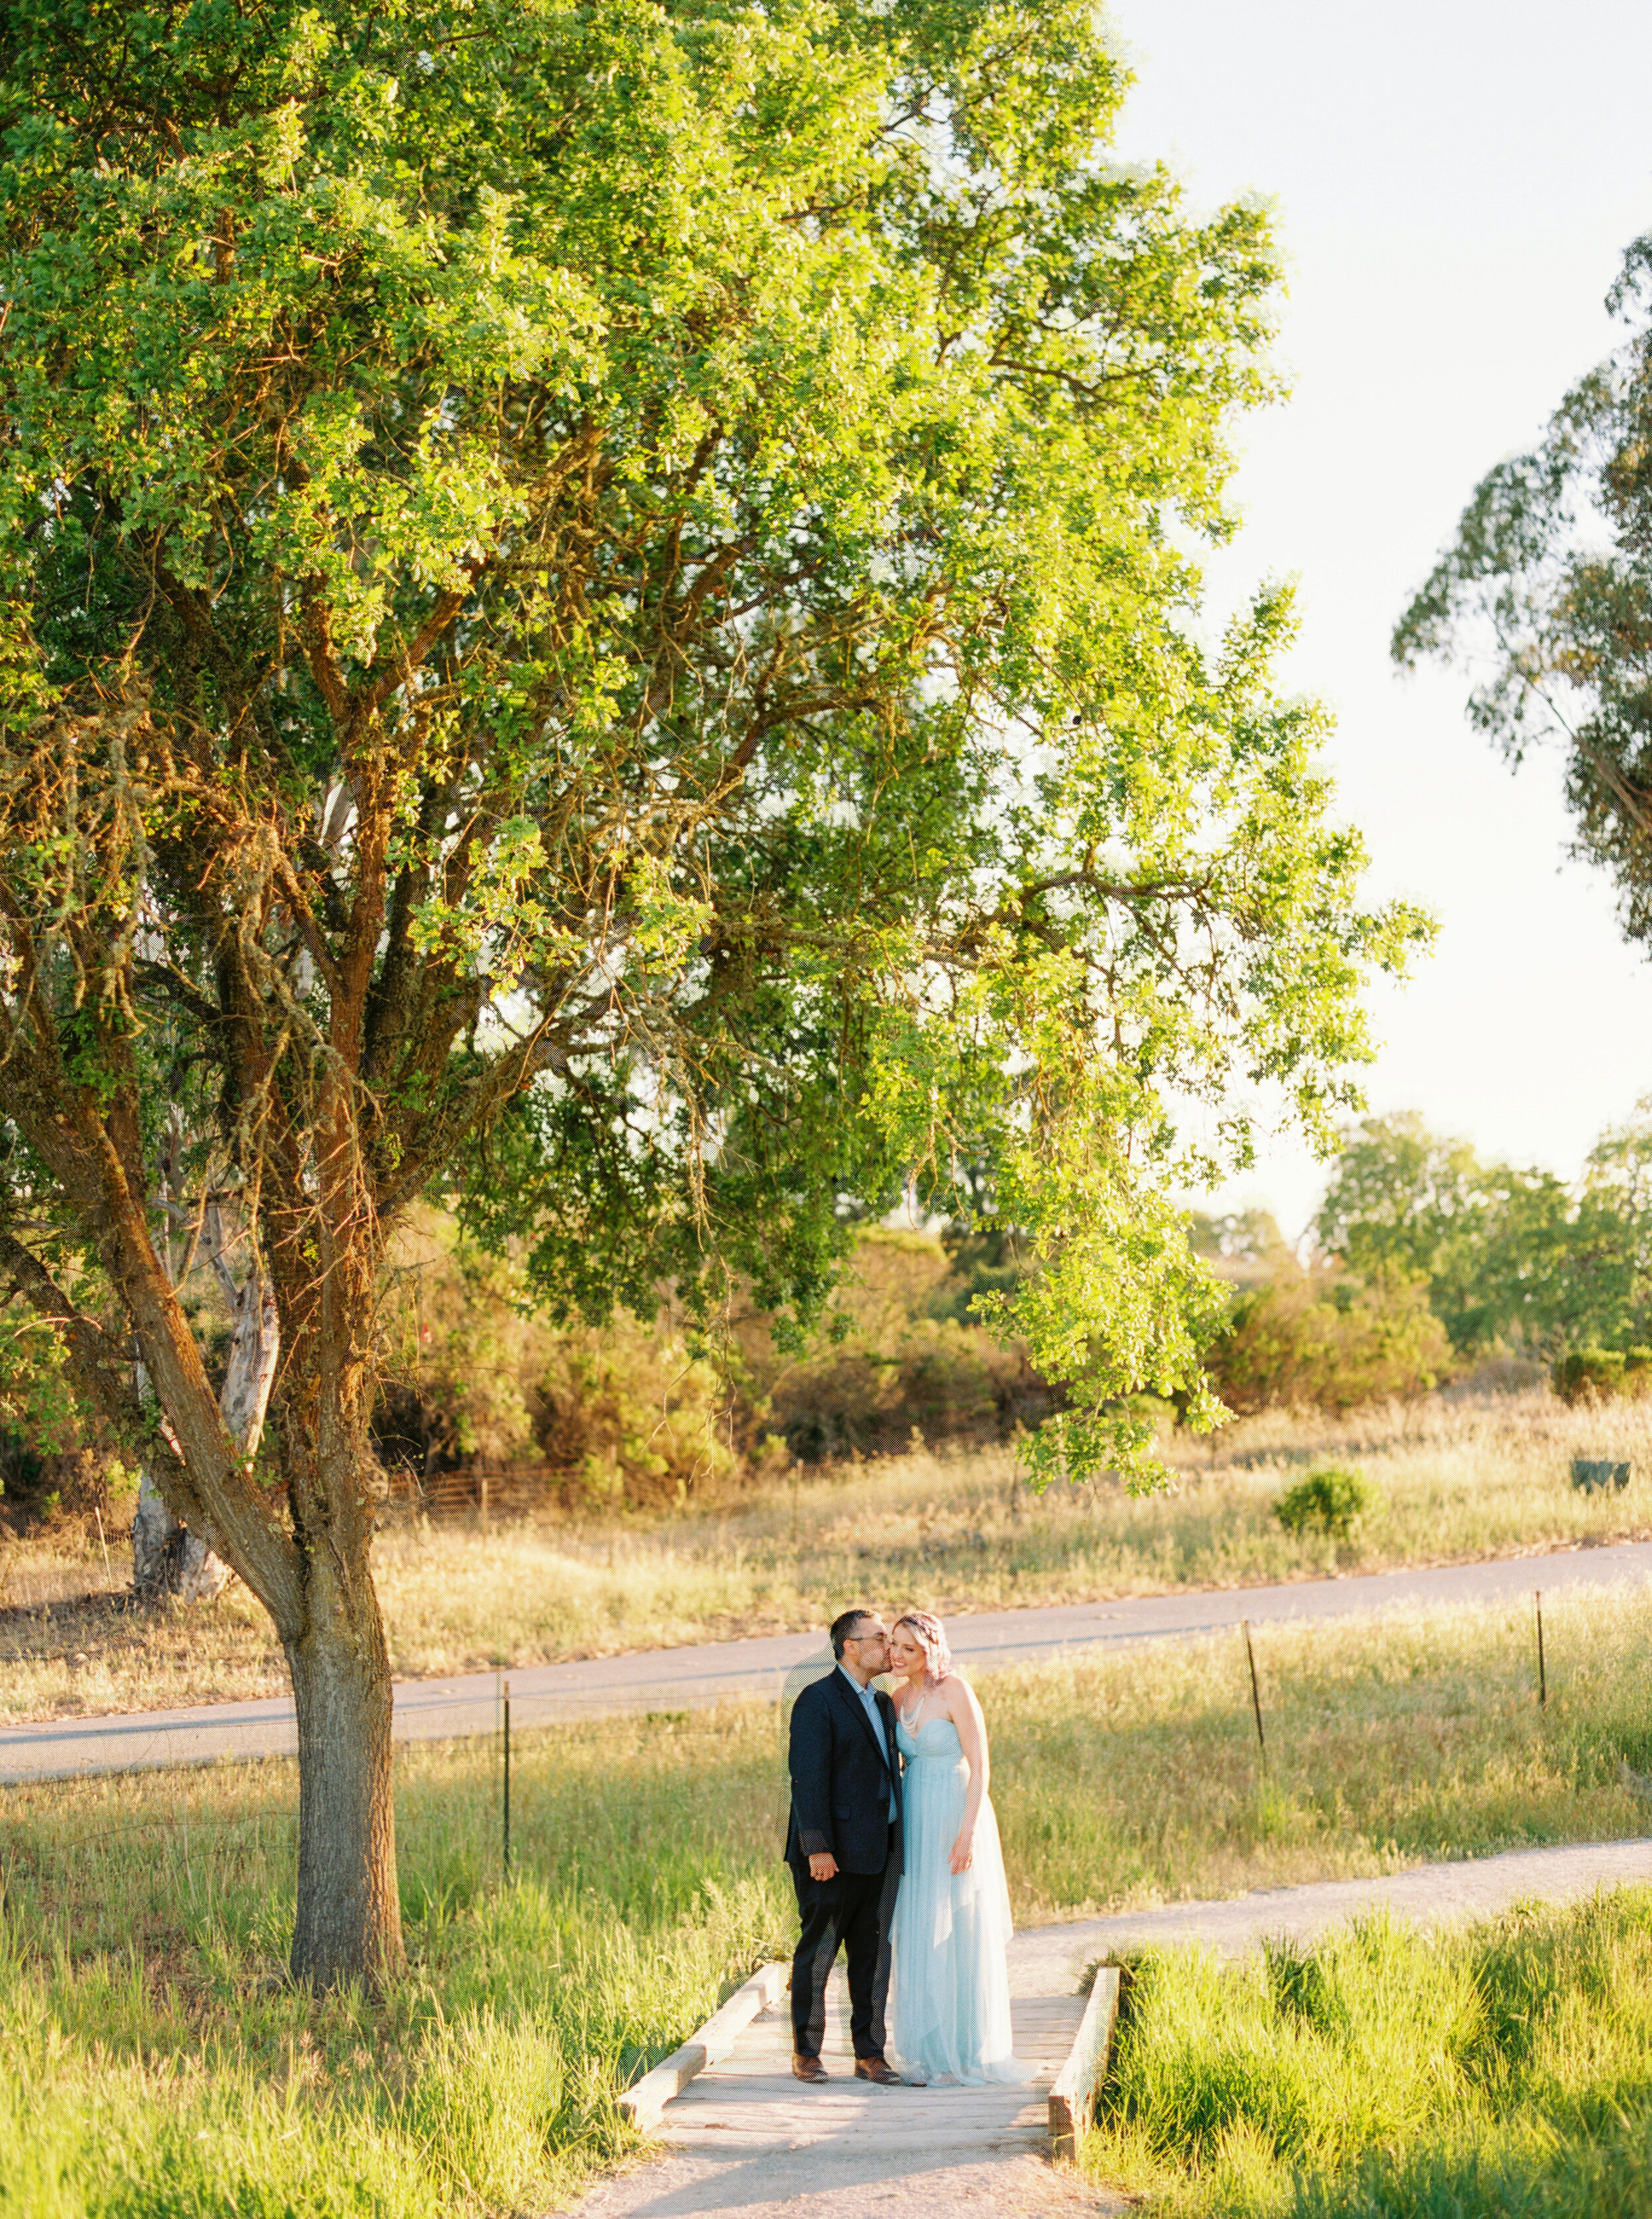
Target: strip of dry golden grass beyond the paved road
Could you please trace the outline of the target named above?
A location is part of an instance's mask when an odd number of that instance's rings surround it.
[[[782,1482],[722,1507],[606,1527],[391,1527],[375,1544],[406,1678],[824,1627],[846,1600],[975,1611],[1177,1587],[1312,1578],[1337,1564],[1508,1556],[1652,1531],[1652,1409],[1568,1411],[1552,1396],[1434,1396],[1341,1425],[1288,1416],[1170,1442],[1177,1491],[1030,1498],[1010,1451],[915,1453]],[[1579,1496],[1572,1456],[1639,1458],[1623,1496]],[[1314,1462],[1354,1462],[1379,1507],[1341,1551],[1295,1538],[1277,1496]],[[0,1558],[0,1718],[160,1709],[284,1691],[242,1589],[138,1613],[124,1542],[11,1542]],[[113,1589],[113,1591],[111,1591]]]

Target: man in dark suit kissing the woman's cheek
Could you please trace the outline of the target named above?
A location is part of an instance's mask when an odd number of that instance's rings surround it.
[[[806,1686],[790,1718],[786,1864],[802,1935],[793,1957],[793,2073],[824,2081],[826,1982],[848,1957],[848,2030],[855,2079],[899,2084],[884,2061],[888,1928],[901,1879],[901,1766],[895,1704],[873,1686],[888,1669],[875,1611],[833,1622],[837,1669]]]

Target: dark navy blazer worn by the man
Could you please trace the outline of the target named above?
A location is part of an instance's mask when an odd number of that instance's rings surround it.
[[[866,1704],[837,1664],[793,1704],[788,1864],[806,1864],[830,1851],[844,1873],[882,1873],[890,1857],[899,1873],[901,1762],[895,1751],[895,1704],[888,1695],[877,1695],[877,1715],[884,1722],[882,1746]],[[893,1846],[890,1786],[895,1789]]]

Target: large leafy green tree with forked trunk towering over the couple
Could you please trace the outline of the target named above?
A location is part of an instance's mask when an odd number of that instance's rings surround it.
[[[1248,1147],[1168,1105],[1323,1134],[1421,925],[1286,599],[1190,621],[1275,260],[1101,158],[1088,4],[18,0],[0,67],[0,1271],[271,1611],[293,1970],[373,1973],[411,1203],[784,1325],[984,1158],[1037,1456],[1141,1473],[1121,1396],[1210,1416],[1166,1183]],[[258,1458],[180,1207],[273,1294]]]

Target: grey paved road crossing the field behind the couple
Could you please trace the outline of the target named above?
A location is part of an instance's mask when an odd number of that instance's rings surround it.
[[[1019,1664],[1064,1651],[1119,1649],[1128,1642],[1195,1640],[1237,1627],[1288,1620],[1359,1618],[1370,1611],[1452,1602],[1514,1602],[1541,1587],[1568,1591],[1652,1582],[1652,1542],[1612,1549],[1565,1549],[1554,1556],[1499,1558],[1485,1564],[1437,1564],[1381,1571],[1352,1580],[1297,1580],[1286,1587],[1223,1587],[1172,1595],[1121,1595],[1039,1611],[979,1611],[953,1618],[948,1635],[959,1662],[975,1671]],[[691,1711],[739,1698],[786,1700],[828,1669],[819,1633],[777,1633],[751,1642],[706,1642],[699,1649],[646,1649],[577,1664],[533,1664],[508,1673],[513,1726],[615,1711]],[[433,1742],[497,1729],[497,1675],[457,1673],[404,1680],[395,1689],[395,1737]],[[44,1720],[0,1726],[0,1782],[64,1780],[167,1764],[215,1764],[222,1757],[280,1757],[298,1746],[293,1704],[218,1702],[189,1711],[135,1711],[124,1718]]]

